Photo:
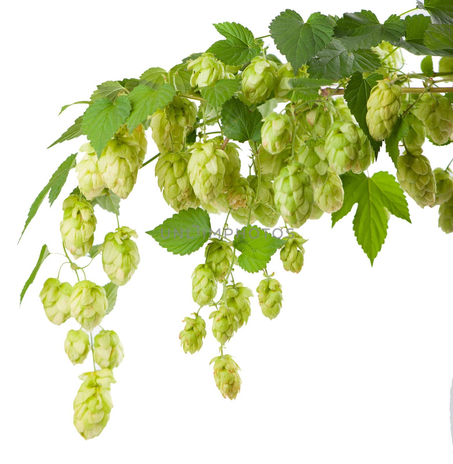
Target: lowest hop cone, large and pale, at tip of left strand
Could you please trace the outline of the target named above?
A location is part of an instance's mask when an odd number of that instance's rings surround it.
[[[74,425],[85,440],[97,437],[107,425],[113,403],[110,384],[115,383],[110,369],[79,375],[83,380],[74,400]]]

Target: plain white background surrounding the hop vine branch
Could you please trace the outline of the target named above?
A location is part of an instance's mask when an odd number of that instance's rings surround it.
[[[384,20],[414,4],[324,1],[321,12],[370,8]],[[453,237],[438,229],[438,208],[422,210],[409,199],[413,224],[392,216],[373,268],[354,238],[353,213],[333,230],[327,215],[309,221],[302,227],[309,239],[302,272],[285,272],[278,253],[269,265],[284,295],[273,321],[258,306],[261,275],[238,269],[236,280],[255,296],[248,325],[227,346],[243,381],[237,400],[229,401],[215,387],[209,366],[218,348],[210,323],[201,352],[184,354],[179,346],[181,321],[197,309],[190,274],[203,261],[202,251],[173,256],[145,234],[172,214],[153,165],[139,172],[132,194],[121,202],[121,224],[139,234],[141,263],[103,322],[118,332],[126,354],[114,371],[114,408],[100,437],[85,442],[78,435],[72,401],[81,383],[77,376],[92,369],[91,358],[72,366],[63,341],[77,324],[72,319],[54,326],[38,298],[44,280],[56,276],[61,256],[47,258],[19,308],[20,290],[41,246],[61,251],[61,203],[76,185],[71,171],[54,206],[44,200],[16,246],[31,202],[84,141],[46,150],[85,109],[75,105],[57,117],[60,107],[88,99],[106,80],[138,77],[151,66],[169,69],[206,50],[220,39],[211,23],[237,21],[261,36],[284,8],[307,19],[321,4],[110,0],[12,5],[3,10],[1,32],[6,64],[0,265],[4,462],[41,456],[49,463],[450,463]],[[410,58],[409,68],[418,71],[419,59]],[[157,153],[149,140],[147,158]],[[450,147],[425,144],[433,168],[447,165]],[[371,172],[383,169],[394,173],[384,150]],[[97,210],[97,217],[95,243],[116,227],[112,214]],[[215,229],[223,220],[214,217],[213,223]],[[61,277],[74,283],[67,267]],[[88,268],[88,278],[107,283],[99,258]],[[206,319],[208,312],[202,312]]]

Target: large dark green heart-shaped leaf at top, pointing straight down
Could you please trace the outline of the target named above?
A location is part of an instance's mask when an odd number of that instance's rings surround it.
[[[333,24],[327,16],[313,13],[307,22],[294,10],[285,10],[272,20],[271,37],[292,64],[294,75],[332,39]]]

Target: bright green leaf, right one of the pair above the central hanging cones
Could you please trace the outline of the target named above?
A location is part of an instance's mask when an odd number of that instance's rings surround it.
[[[245,226],[236,233],[233,246],[241,254],[239,266],[247,272],[258,272],[271,261],[271,256],[284,245],[284,241],[274,237],[258,226]]]

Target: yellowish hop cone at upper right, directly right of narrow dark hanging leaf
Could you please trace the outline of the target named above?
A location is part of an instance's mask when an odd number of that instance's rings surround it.
[[[401,107],[401,87],[384,79],[371,89],[366,102],[366,123],[376,141],[386,139],[393,131]]]

